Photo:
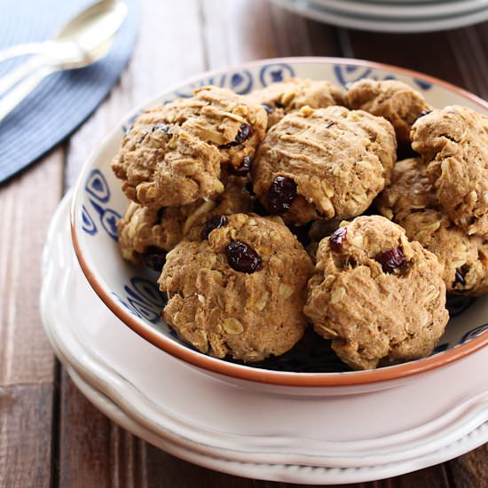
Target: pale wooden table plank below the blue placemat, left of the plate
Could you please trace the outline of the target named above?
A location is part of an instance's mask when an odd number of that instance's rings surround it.
[[[63,149],[0,188],[0,385],[52,380],[39,317],[43,242],[62,188]]]

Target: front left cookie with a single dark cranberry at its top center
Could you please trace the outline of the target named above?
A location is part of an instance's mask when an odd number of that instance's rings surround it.
[[[207,239],[183,240],[166,257],[163,317],[201,352],[259,361],[302,337],[313,266],[279,217],[227,216]]]

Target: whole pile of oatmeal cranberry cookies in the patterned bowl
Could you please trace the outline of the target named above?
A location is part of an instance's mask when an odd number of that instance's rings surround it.
[[[204,87],[141,114],[112,167],[123,258],[216,358],[279,356],[310,324],[354,369],[422,358],[446,291],[488,291],[488,117],[405,83]]]

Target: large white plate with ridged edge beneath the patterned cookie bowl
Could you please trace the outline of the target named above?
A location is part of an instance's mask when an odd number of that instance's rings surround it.
[[[44,327],[84,391],[106,397],[87,393],[95,405],[153,444],[240,476],[323,484],[394,476],[488,440],[486,348],[401,388],[349,397],[264,394],[200,374],[101,303],[76,262],[68,206],[69,197],[44,249]]]

